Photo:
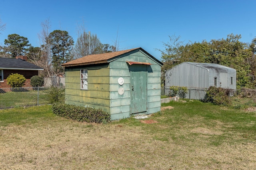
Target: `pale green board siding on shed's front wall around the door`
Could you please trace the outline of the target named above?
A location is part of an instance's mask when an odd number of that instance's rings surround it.
[[[110,63],[110,111],[112,119],[130,117],[131,114],[131,87],[130,65],[126,61],[151,63],[147,66],[147,112],[156,113],[161,107],[161,66],[145,53],[138,51]],[[124,78],[124,84],[118,84],[118,78]],[[118,94],[119,88],[124,88],[124,94]]]

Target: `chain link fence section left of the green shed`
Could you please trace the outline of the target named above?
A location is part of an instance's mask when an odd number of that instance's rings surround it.
[[[0,88],[0,109],[64,102],[65,87]]]

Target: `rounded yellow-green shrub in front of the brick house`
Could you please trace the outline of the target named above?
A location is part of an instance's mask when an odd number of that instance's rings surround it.
[[[21,74],[18,74],[18,73],[13,74],[12,73],[6,78],[6,82],[12,88],[18,88],[18,87],[22,87],[24,85],[24,83],[26,82],[26,78]]]

